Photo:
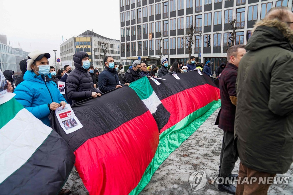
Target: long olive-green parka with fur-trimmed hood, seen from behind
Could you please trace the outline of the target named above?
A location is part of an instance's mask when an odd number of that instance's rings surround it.
[[[234,134],[243,165],[285,173],[293,161],[293,31],[279,20],[255,25],[238,67]]]

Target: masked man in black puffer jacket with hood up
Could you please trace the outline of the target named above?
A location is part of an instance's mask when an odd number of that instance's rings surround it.
[[[75,69],[66,79],[66,93],[72,104],[87,98],[101,96],[102,92],[93,87],[93,79],[88,69],[90,62],[86,52],[76,52],[73,55]]]

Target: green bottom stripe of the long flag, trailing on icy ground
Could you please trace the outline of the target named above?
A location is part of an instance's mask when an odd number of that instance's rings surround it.
[[[208,105],[191,113],[174,126],[166,129],[160,134],[159,146],[151,163],[144,172],[142,179],[129,194],[139,194],[147,186],[154,172],[159,168],[166,158],[178,148],[183,141],[189,138],[205,120],[221,106],[221,101],[213,101]],[[191,123],[190,123],[191,122]],[[189,124],[188,126],[186,126]]]

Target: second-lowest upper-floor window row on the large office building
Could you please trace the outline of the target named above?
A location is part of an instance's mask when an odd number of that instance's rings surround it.
[[[263,19],[265,17],[265,14],[272,8],[272,2],[261,4],[261,14],[260,19]],[[185,24],[184,24],[184,17],[181,18],[174,18],[170,20],[164,20],[164,21],[157,21],[152,22],[149,24],[142,24],[137,25],[137,27],[132,26],[126,28],[121,28],[121,37],[129,37],[136,35],[137,30],[137,36],[138,38],[141,38],[141,34],[148,34],[148,33],[160,33],[161,32],[161,23],[163,23],[163,35],[167,36],[169,30],[181,30],[184,28],[190,28],[192,25],[195,27],[195,32],[202,32],[202,16],[204,16],[204,26],[211,26],[212,25],[212,13],[205,13],[201,15],[196,16],[186,16],[185,17]],[[222,25],[222,20],[224,19],[224,24],[229,24],[233,20],[233,9],[228,9],[224,11],[224,14],[222,11],[214,12],[213,14],[213,25]],[[193,18],[195,19],[195,22],[193,23]],[[245,23],[245,8],[237,8],[236,9],[236,27],[238,29],[244,28]],[[248,14],[247,14],[247,21],[253,21],[258,19],[258,5],[248,6]],[[177,25],[176,25],[177,20]],[[170,23],[170,28],[169,28]],[[149,27],[149,30],[147,29]],[[155,28],[154,28],[155,27]],[[131,31],[130,31],[131,30]]]

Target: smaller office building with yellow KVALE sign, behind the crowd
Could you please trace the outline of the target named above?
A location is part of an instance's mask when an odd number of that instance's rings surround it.
[[[68,64],[74,69],[73,55],[80,51],[88,53],[89,61],[99,71],[104,70],[104,56],[112,56],[117,64],[120,62],[120,41],[87,30],[60,45],[61,67]]]

